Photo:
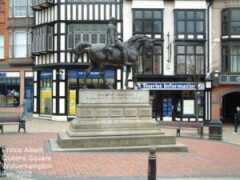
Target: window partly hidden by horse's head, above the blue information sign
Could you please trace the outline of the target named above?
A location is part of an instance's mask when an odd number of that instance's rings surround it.
[[[162,46],[160,44],[154,46],[153,56],[139,56],[139,74],[162,74],[162,68]]]

